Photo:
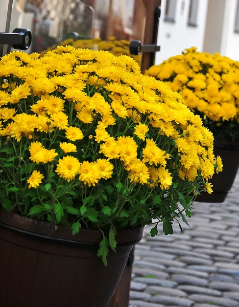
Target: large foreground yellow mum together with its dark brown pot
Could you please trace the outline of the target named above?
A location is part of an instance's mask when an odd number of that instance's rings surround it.
[[[16,51],[0,78],[1,302],[106,306],[142,227],[211,191],[212,134],[128,56]]]

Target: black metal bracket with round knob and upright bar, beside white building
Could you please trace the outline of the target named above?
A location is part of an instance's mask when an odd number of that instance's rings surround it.
[[[160,46],[157,46],[157,37],[158,37],[158,25],[159,17],[161,15],[161,8],[156,7],[154,10],[154,28],[153,28],[153,37],[152,45],[142,45],[140,40],[131,40],[130,42],[130,53],[133,55],[139,55],[142,52],[152,53],[150,58],[150,65],[154,64],[155,52],[160,51]]]

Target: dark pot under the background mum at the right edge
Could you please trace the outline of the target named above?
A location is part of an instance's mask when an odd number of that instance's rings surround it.
[[[223,162],[223,171],[214,174],[212,180],[213,193],[202,192],[196,199],[197,202],[223,203],[235,180],[239,166],[239,145],[238,143],[215,142],[215,156],[220,156]]]

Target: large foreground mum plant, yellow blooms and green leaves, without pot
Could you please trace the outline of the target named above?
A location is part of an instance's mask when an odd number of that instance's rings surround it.
[[[155,219],[152,235],[160,222],[172,234],[221,170],[200,117],[128,56],[16,51],[0,84],[0,204],[73,234],[100,229],[105,263],[118,229]]]

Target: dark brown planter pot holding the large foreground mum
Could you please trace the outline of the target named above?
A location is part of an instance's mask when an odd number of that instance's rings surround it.
[[[3,307],[106,307],[143,228],[117,232],[108,266],[97,257],[102,234],[0,210],[0,297]]]

